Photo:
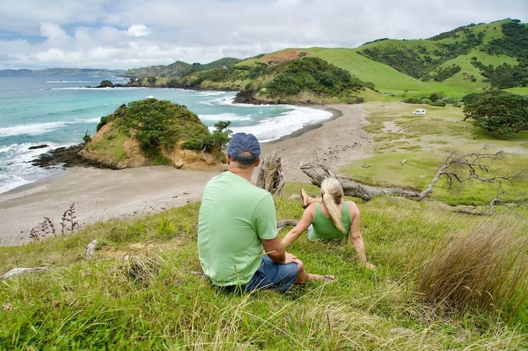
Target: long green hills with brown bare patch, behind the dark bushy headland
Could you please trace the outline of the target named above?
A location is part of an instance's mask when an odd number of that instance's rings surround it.
[[[245,60],[130,70],[127,76],[157,77],[149,85],[243,91],[257,80],[270,80],[265,75],[272,68],[305,57],[321,58],[364,82],[371,88],[361,92],[366,101],[438,92],[460,99],[490,87],[528,94],[528,26],[509,18],[462,26],[427,39],[381,38],[357,48],[285,48]]]

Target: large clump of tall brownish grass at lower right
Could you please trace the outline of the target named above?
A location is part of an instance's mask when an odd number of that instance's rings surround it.
[[[456,313],[473,308],[509,323],[528,298],[526,219],[502,215],[438,247],[418,279],[426,303]]]

